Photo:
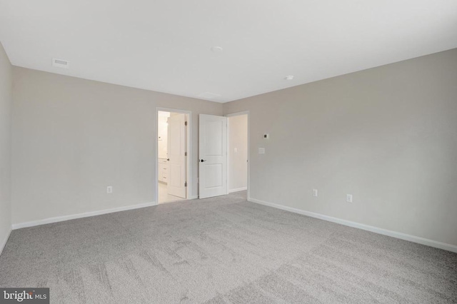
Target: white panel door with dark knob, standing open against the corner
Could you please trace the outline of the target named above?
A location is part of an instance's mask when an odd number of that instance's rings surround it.
[[[227,194],[227,118],[200,114],[199,198]]]

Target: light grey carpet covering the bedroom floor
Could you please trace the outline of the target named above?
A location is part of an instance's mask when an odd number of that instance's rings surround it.
[[[246,193],[14,230],[0,286],[51,303],[456,303],[457,254]]]

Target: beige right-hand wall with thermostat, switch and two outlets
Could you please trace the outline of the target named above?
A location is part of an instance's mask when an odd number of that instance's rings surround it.
[[[224,104],[246,110],[251,198],[457,245],[457,49]]]

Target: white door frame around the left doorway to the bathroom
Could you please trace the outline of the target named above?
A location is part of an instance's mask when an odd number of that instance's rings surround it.
[[[183,113],[187,114],[187,130],[186,130],[186,151],[187,151],[187,160],[186,160],[186,200],[191,198],[191,188],[192,188],[192,181],[191,181],[191,160],[192,160],[192,111],[181,110],[178,108],[162,108],[156,107],[156,193],[155,193],[155,202],[156,205],[159,205],[159,111],[164,112],[171,112],[171,113]]]

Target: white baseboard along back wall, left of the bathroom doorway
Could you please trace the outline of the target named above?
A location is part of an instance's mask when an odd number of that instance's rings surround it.
[[[156,205],[157,205],[156,202],[140,203],[137,205],[123,206],[123,207],[105,209],[105,210],[100,210],[100,211],[77,213],[77,214],[72,214],[70,216],[56,216],[55,218],[44,218],[43,220],[38,220],[38,221],[13,224],[12,228],[19,229],[19,228],[26,228],[26,227],[34,227],[34,226],[39,226],[39,225],[44,225],[44,224],[74,220],[76,218],[89,218],[90,216],[101,216],[102,214],[106,214],[106,213],[127,211],[127,210],[145,208],[145,207],[156,206]]]

